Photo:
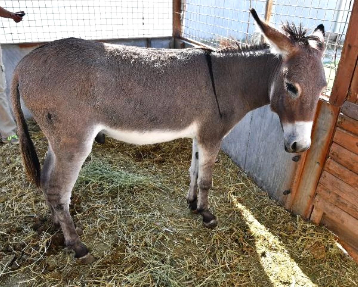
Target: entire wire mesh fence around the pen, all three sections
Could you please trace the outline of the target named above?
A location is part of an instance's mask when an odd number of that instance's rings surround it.
[[[260,35],[249,8],[265,18],[267,0],[182,0],[182,36],[216,47],[225,38],[255,44]],[[148,38],[171,36],[172,0],[3,1],[7,10],[24,10],[23,21],[0,18],[0,43],[31,43],[60,38]],[[352,0],[274,0],[270,22],[302,23],[309,31],[326,30],[324,67],[329,96],[352,10]]]

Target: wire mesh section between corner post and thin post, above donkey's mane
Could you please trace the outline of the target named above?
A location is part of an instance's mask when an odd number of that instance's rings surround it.
[[[265,5],[266,0],[183,0],[182,36],[213,47],[223,39],[255,42],[258,33],[248,9],[264,18]]]

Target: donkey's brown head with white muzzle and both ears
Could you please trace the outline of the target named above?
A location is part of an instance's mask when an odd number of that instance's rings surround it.
[[[303,152],[311,144],[311,130],[319,96],[326,86],[322,55],[324,26],[312,35],[300,26],[284,26],[284,33],[258,18],[251,9],[262,33],[282,64],[269,90],[271,109],[276,112],[284,130],[286,152]]]

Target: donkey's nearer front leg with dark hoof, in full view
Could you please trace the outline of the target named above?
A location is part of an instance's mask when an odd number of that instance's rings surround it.
[[[217,226],[218,221],[208,208],[208,191],[212,186],[213,168],[220,149],[220,143],[200,144],[199,148],[199,174],[198,174],[198,202],[197,212],[203,217],[203,225],[208,228]]]

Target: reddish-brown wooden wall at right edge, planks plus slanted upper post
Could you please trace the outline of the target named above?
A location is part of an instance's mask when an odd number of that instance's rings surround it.
[[[358,262],[358,1],[329,104],[339,107],[330,148],[305,216],[333,231]],[[307,201],[310,202],[309,200]],[[311,213],[310,213],[311,211]]]

